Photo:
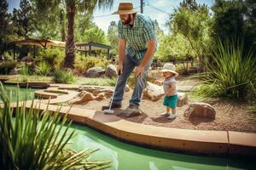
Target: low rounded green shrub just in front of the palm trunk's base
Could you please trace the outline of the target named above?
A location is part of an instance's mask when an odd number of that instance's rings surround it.
[[[53,81],[55,83],[67,83],[70,84],[75,81],[75,77],[71,71],[56,70],[53,75]]]

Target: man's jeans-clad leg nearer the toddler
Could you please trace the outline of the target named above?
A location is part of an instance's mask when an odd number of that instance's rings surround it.
[[[148,69],[151,65],[152,59],[148,62],[148,64],[144,67],[143,73],[135,77],[135,87],[130,99],[130,105],[140,105],[141,97],[143,94],[143,89],[146,87],[147,77],[148,77]],[[137,63],[139,65],[140,61]]]

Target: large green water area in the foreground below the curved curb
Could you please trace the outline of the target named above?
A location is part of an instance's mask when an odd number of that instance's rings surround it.
[[[72,139],[73,150],[96,150],[91,159],[112,160],[109,169],[119,170],[233,170],[256,169],[250,160],[228,159],[209,156],[190,156],[159,150],[149,150],[125,144],[89,127],[73,125],[77,135]]]

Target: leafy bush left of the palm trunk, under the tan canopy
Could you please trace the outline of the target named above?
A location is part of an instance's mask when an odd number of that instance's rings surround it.
[[[46,62],[52,66],[52,69],[59,69],[64,61],[64,51],[58,48],[45,48],[41,49],[36,58],[37,63]]]

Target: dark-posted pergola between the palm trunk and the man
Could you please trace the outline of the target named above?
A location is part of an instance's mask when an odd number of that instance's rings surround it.
[[[101,49],[106,49],[107,50],[107,56],[109,59],[109,49],[111,48],[108,45],[104,45],[102,43],[96,43],[96,42],[79,42],[76,43],[76,49],[79,51],[84,51],[85,56],[88,54],[91,54],[91,51],[96,51],[96,50],[101,50]]]

